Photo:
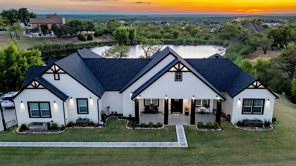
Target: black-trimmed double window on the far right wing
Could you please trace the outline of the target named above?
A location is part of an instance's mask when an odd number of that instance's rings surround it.
[[[242,114],[263,114],[265,99],[243,99]]]

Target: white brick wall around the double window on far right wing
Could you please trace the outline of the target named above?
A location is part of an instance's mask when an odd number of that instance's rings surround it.
[[[239,100],[240,98],[240,100]],[[243,99],[265,99],[263,115],[260,114],[242,114],[242,102]],[[269,101],[268,101],[269,99]],[[264,119],[272,119],[274,110],[274,99],[275,96],[272,95],[267,89],[245,89],[237,96],[233,98],[233,112],[232,112],[232,123],[237,123],[238,120],[254,119],[259,118],[264,122]],[[223,103],[224,104],[224,103]],[[223,105],[222,104],[222,105]]]

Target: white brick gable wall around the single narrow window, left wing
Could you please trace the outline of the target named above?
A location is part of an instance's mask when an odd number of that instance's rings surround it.
[[[57,88],[62,90],[65,94],[69,96],[67,100],[67,122],[76,121],[76,119],[81,116],[81,118],[89,118],[98,123],[98,105],[97,97],[94,93],[86,89],[83,85],[77,82],[75,79],[70,77],[68,74],[59,74],[60,80],[54,80],[54,74],[43,74],[42,77],[55,85]],[[70,99],[72,97],[72,99]],[[90,99],[91,97],[91,99]],[[78,114],[76,98],[87,98],[89,114]]]

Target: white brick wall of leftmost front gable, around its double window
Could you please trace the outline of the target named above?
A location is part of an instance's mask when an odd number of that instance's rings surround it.
[[[28,101],[50,102],[52,118],[29,118]],[[54,101],[56,102],[54,103]],[[22,123],[26,123],[28,125],[31,122],[50,122],[51,120],[57,122],[58,126],[65,124],[63,101],[47,89],[25,89],[14,99],[14,102],[19,126]]]

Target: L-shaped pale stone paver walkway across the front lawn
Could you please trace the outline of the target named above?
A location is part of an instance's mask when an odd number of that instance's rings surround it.
[[[0,142],[0,147],[188,147],[184,127],[175,127],[177,142]]]

